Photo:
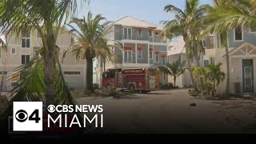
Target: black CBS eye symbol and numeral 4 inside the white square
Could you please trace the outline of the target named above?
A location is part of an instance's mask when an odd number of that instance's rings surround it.
[[[18,110],[15,114],[15,118],[18,122],[26,122],[27,119],[29,121],[34,121],[38,123],[41,118],[39,118],[39,110],[34,110],[32,114],[27,114],[26,110]]]

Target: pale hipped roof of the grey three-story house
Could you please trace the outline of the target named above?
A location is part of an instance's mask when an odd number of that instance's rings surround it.
[[[119,19],[118,21],[114,22],[115,25],[122,25],[122,26],[132,26],[132,27],[143,27],[143,28],[153,28],[162,30],[162,27],[156,26],[151,22],[146,22],[144,20],[139,20],[137,18],[132,18],[130,16],[126,16],[124,18]]]

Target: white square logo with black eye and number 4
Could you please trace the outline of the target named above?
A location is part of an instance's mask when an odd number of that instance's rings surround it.
[[[42,131],[42,102],[14,102],[14,131]]]

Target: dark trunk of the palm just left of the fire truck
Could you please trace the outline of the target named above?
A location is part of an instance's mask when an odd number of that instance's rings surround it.
[[[93,77],[94,74],[94,64],[93,58],[86,58],[87,68],[86,68],[86,90],[90,90],[94,93],[94,84],[93,84]]]

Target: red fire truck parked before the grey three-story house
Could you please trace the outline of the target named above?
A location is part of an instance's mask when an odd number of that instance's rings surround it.
[[[102,74],[102,88],[120,88],[130,92],[147,93],[159,89],[160,78],[160,70],[157,67],[112,69]]]

